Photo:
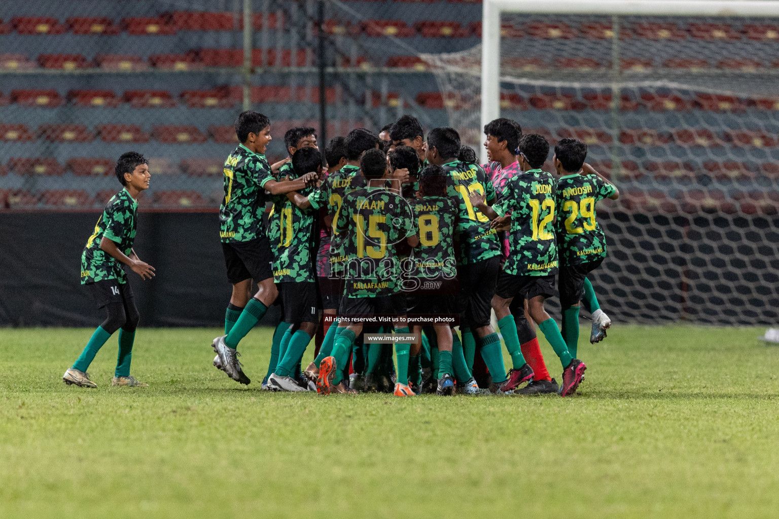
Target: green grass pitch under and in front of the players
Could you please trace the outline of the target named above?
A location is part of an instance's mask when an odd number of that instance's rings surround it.
[[[260,391],[268,328],[248,388],[216,329],[140,328],[150,387],[111,387],[112,338],[96,390],[60,378],[91,330],[0,329],[0,517],[776,517],[762,332],[616,324],[573,398],[395,398]]]

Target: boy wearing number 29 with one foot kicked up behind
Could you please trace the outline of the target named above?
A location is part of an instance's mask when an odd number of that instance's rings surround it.
[[[606,236],[595,219],[595,204],[604,198],[616,200],[619,197],[614,184],[584,163],[586,158],[586,144],[576,139],[562,139],[555,145],[552,159],[561,175],[557,181],[559,217],[556,232],[562,336],[574,357],[579,342],[579,308],[585,280],[587,274],[606,258]],[[592,311],[592,324],[592,335],[600,340],[605,337],[605,329],[611,321],[598,307]]]

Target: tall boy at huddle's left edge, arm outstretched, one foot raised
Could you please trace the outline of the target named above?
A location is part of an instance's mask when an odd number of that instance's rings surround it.
[[[219,209],[220,238],[227,280],[233,286],[225,315],[227,335],[213,339],[213,365],[228,377],[249,384],[238,362],[238,342],[262,319],[278,290],[273,283],[273,252],[263,223],[265,191],[280,195],[316,182],[316,174],[277,181],[266,160],[271,140],[270,119],[255,111],[238,115],[235,133],[240,145],[224,162],[224,199]],[[259,290],[251,297],[252,279]]]

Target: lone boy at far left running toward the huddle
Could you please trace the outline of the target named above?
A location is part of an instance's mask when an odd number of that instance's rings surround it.
[[[122,268],[122,263],[128,265],[141,279],[151,279],[154,275],[154,268],[140,261],[132,250],[138,223],[137,198],[141,191],[149,188],[149,163],[140,153],[125,153],[119,157],[115,173],[124,189],[108,201],[81,255],[81,284],[91,290],[97,307],[106,309],[107,317],[94,331],[76,363],[62,375],[66,384],[80,387],[97,387],[86,370],[98,350],[117,330],[119,355],[111,384],[149,385],[130,376],[132,344],[140,316]]]

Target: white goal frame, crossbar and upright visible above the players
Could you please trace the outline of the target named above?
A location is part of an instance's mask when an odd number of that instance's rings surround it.
[[[500,14],[779,17],[775,0],[483,0],[481,3],[481,125],[500,117]],[[481,162],[487,150],[481,149]]]

